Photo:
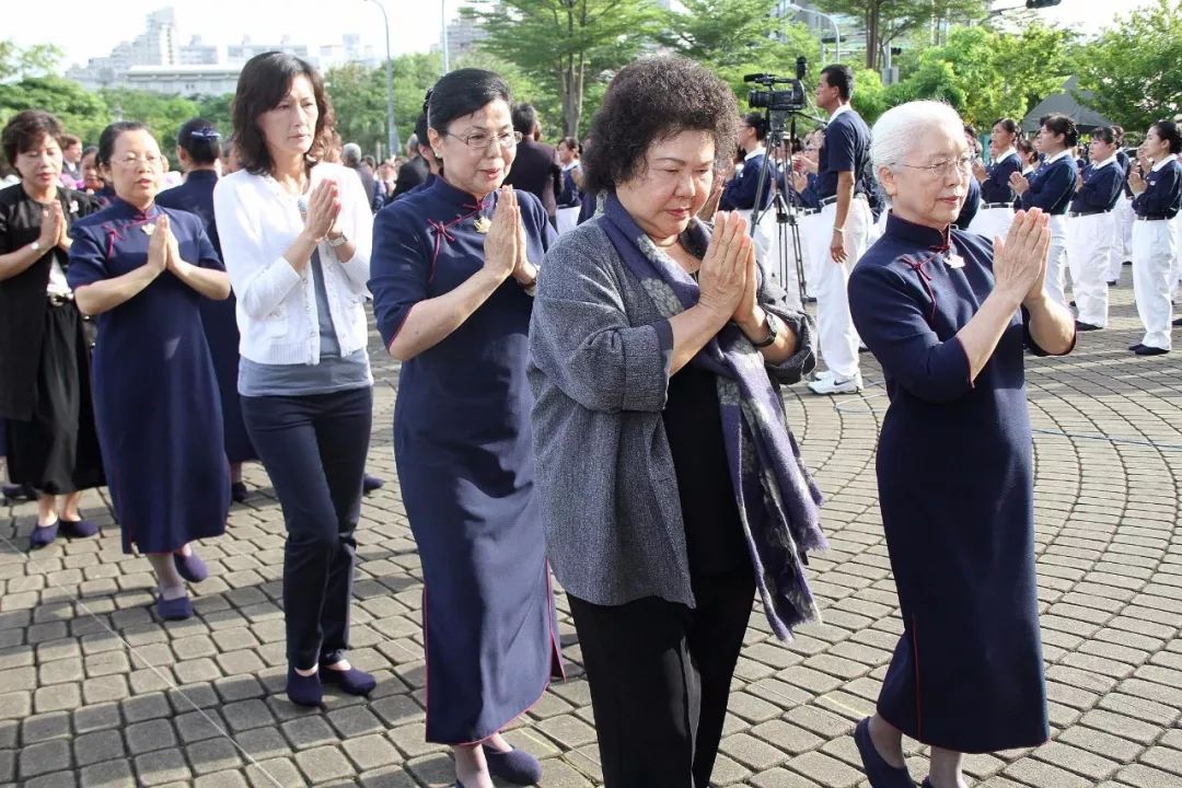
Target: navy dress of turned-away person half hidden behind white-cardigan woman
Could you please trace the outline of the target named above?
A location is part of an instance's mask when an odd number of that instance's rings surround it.
[[[217,240],[217,222],[214,220],[214,187],[217,185],[217,174],[213,170],[194,170],[184,178],[184,183],[161,191],[156,204],[161,208],[188,210],[201,217],[206,234],[221,258],[221,242]],[[217,392],[221,396],[222,430],[226,437],[226,457],[230,462],[258,460],[259,455],[251,443],[242,422],[242,405],[238,399],[238,320],[235,304],[238,300],[230,293],[225,301],[210,298],[201,299],[201,325],[209,344],[209,353],[214,359],[214,372],[217,373]]]

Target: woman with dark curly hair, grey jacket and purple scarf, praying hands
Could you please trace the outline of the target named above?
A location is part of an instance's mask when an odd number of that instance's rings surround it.
[[[690,60],[622,70],[584,158],[604,210],[538,282],[537,489],[609,788],[708,786],[756,587],[780,638],[817,617],[820,495],[778,391],[813,367],[812,323],[738,215],[696,219],[736,117]]]

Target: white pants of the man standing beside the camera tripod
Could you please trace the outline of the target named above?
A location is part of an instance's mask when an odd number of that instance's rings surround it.
[[[836,202],[820,209],[818,216],[821,229],[811,235],[813,242],[808,256],[817,272],[817,344],[820,356],[825,359],[825,366],[837,377],[849,379],[858,375],[858,332],[850,317],[850,300],[845,287],[853,266],[866,250],[873,214],[865,200],[855,198],[850,202],[843,235],[846,254],[844,263],[833,262],[829,253],[836,214]]]

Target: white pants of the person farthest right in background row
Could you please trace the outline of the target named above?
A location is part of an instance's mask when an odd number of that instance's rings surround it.
[[[1141,344],[1170,350],[1170,275],[1177,254],[1174,223],[1167,220],[1132,223],[1132,294],[1145,326]]]

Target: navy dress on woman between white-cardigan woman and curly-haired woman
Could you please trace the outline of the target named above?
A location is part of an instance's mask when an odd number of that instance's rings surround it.
[[[554,240],[517,191],[532,262]],[[443,178],[383,208],[370,291],[389,347],[411,307],[485,265],[493,215]],[[486,217],[481,220],[481,217]],[[487,738],[537,702],[559,667],[526,382],[532,298],[506,280],[463,325],[402,365],[394,451],[422,559],[427,741]]]

